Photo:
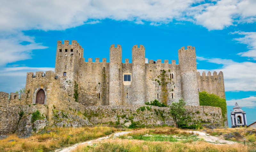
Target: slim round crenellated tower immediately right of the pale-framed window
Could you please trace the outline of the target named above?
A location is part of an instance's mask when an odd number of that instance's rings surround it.
[[[145,104],[146,74],[145,48],[143,45],[132,47],[132,104]]]

